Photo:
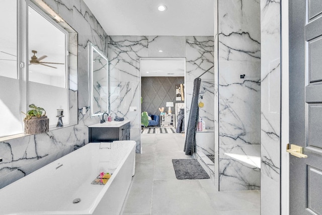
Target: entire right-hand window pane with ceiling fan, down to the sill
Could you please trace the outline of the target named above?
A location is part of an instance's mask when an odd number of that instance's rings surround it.
[[[64,110],[69,124],[66,88],[66,38],[68,32],[44,12],[28,7],[29,102],[46,110],[49,126],[57,124],[57,109]]]

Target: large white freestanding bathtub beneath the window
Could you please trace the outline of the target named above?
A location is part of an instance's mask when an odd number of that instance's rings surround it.
[[[0,214],[119,214],[134,175],[135,146],[131,140],[90,143],[44,166],[0,189]],[[91,184],[101,170],[112,177]]]

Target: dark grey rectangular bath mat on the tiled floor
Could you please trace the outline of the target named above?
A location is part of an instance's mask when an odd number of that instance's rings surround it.
[[[206,171],[197,159],[172,159],[177,179],[207,179]]]

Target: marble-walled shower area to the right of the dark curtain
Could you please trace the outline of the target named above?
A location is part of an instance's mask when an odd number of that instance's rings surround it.
[[[219,0],[214,8],[214,69],[200,77],[199,92],[207,103],[199,116],[209,121],[196,133],[197,158],[220,191],[259,190],[260,1]]]

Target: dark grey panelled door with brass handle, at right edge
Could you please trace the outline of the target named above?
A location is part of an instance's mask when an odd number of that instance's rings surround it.
[[[290,214],[322,214],[322,0],[289,1]]]

